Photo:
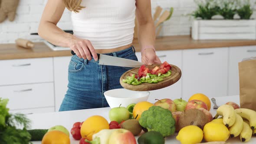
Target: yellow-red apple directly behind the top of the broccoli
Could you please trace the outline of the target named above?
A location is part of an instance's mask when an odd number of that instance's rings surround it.
[[[158,99],[155,99],[155,100],[158,100]],[[154,105],[168,109],[171,112],[176,111],[176,105],[174,104],[174,101],[169,98],[164,98],[164,99],[158,100],[157,102],[154,103]]]

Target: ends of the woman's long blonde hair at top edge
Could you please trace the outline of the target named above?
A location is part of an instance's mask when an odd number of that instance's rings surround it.
[[[81,6],[82,0],[63,0],[63,3],[65,4],[66,8],[70,11],[74,11],[75,13],[79,13],[79,10],[82,10],[82,8],[85,8]]]

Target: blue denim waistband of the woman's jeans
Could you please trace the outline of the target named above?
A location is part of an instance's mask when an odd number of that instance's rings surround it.
[[[135,53],[135,48],[134,46],[131,46],[127,49],[123,49],[123,50],[120,50],[120,51],[117,51],[117,52],[110,52],[110,53],[102,53],[103,55],[108,55],[108,56],[116,56],[116,57],[125,57],[125,56],[128,56],[128,55],[131,55],[131,54],[134,54]],[[87,59],[83,59],[83,58],[79,58],[78,56],[76,55],[73,55],[72,56],[73,58],[75,59],[78,59],[80,61],[83,61],[84,63],[87,63],[87,62],[98,62],[98,61],[95,61],[92,57],[92,60],[87,60]]]

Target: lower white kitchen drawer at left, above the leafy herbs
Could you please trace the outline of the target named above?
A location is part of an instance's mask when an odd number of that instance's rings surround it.
[[[8,98],[10,110],[54,106],[54,86],[51,83],[0,86],[0,95]]]

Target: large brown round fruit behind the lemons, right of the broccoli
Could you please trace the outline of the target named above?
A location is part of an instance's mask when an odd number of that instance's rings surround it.
[[[205,115],[203,111],[196,108],[189,109],[181,114],[177,125],[177,131],[180,131],[181,128],[184,128],[188,125],[196,125],[203,130],[204,125],[208,122],[208,116]]]

